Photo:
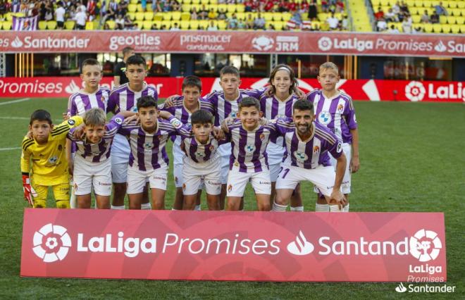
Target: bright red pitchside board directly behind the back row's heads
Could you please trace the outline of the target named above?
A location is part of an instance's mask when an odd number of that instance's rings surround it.
[[[160,98],[181,94],[182,77],[147,77],[149,85]],[[0,95],[7,97],[68,97],[82,88],[79,77],[0,77]],[[268,84],[268,78],[242,78],[241,88],[258,89]],[[101,85],[113,87],[113,77],[104,77]],[[320,88],[316,79],[299,80],[304,92]],[[464,82],[409,80],[340,80],[337,87],[355,100],[364,101],[435,101],[464,102]],[[202,77],[204,94],[221,90],[219,78]]]

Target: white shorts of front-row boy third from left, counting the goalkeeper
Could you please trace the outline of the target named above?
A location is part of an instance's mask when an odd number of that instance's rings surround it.
[[[168,166],[155,170],[141,171],[138,168],[128,168],[128,194],[138,194],[144,192],[147,181],[151,189],[166,190],[166,180],[168,177]]]

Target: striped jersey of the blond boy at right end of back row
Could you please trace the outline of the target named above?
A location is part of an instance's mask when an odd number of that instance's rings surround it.
[[[314,89],[307,99],[314,104],[316,122],[328,127],[342,142],[351,144],[350,130],[357,127],[352,98],[340,91],[328,99],[322,89]]]

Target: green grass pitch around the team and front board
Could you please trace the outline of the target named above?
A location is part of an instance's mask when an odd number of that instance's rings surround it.
[[[21,278],[20,246],[23,189],[20,144],[37,108],[59,123],[67,99],[0,98],[0,295],[2,299],[56,298],[251,298],[354,299],[392,298],[396,283],[187,282],[151,280],[78,280]],[[355,102],[360,134],[359,173],[352,176],[351,211],[440,211],[445,213],[447,285],[455,294],[404,294],[421,298],[464,299],[465,259],[465,106],[464,104]],[[171,149],[171,144],[168,146]],[[168,149],[168,152],[169,149]],[[172,175],[166,207],[174,195]],[[306,211],[314,210],[309,184],[302,194]],[[256,207],[247,192],[246,209]],[[49,199],[49,205],[53,202]],[[204,201],[203,201],[204,202]],[[205,203],[203,203],[205,209]],[[460,294],[462,296],[460,296]]]

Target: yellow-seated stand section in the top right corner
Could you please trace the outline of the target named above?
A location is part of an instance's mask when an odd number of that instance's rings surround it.
[[[371,0],[378,31],[465,33],[465,1]],[[380,25],[380,26],[378,26]]]

